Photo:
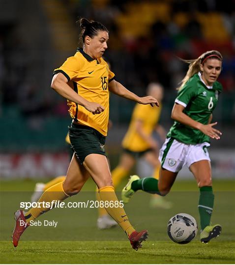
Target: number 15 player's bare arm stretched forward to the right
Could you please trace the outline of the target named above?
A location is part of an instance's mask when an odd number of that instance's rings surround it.
[[[112,80],[109,83],[109,91],[126,99],[136,101],[140,104],[150,104],[151,106],[159,106],[158,101],[152,96],[138,97],[136,94],[126,89],[121,83],[116,80]]]

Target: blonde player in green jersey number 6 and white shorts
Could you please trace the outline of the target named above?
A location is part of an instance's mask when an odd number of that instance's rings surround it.
[[[186,164],[200,189],[201,241],[207,243],[221,233],[220,225],[210,225],[214,194],[207,148],[210,146],[209,138],[218,140],[222,134],[213,128],[217,122],[211,123],[212,111],[222,91],[222,85],[216,81],[221,72],[222,55],[208,51],[195,60],[184,61],[189,63],[189,69],[178,88],[173,106],[175,123],[160,150],[160,178],[131,176],[122,190],[122,200],[127,203],[137,190],[165,196]]]

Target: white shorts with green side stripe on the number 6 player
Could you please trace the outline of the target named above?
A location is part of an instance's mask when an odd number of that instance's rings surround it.
[[[171,171],[179,172],[184,166],[190,167],[192,163],[200,160],[209,160],[207,142],[200,144],[184,144],[174,138],[167,138],[159,152],[159,161],[162,167]]]

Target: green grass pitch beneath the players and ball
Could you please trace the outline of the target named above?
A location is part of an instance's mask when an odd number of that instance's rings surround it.
[[[30,201],[35,181],[1,182],[0,262],[4,264],[234,264],[235,263],[235,182],[213,183],[215,193],[212,223],[222,225],[219,238],[207,245],[197,238],[179,245],[167,236],[167,222],[174,214],[193,215],[199,225],[198,188],[193,181],[178,181],[166,200],[174,206],[170,210],[149,207],[150,196],[137,192],[125,206],[131,223],[137,230],[147,229],[149,238],[143,248],[135,251],[122,230],[117,227],[100,231],[96,228],[97,210],[54,209],[38,218],[56,220],[58,226],[29,227],[17,248],[11,243],[14,227],[13,212],[20,201]],[[120,185],[123,186],[124,183]],[[88,181],[84,191],[67,201],[95,200],[94,184]],[[119,188],[120,190],[120,188]],[[118,194],[120,198],[120,194]],[[66,202],[67,202],[66,201]]]

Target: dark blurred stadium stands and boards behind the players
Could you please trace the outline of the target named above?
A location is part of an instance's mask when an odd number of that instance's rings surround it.
[[[76,52],[86,17],[110,30],[110,61],[118,81],[138,95],[149,82],[165,87],[160,123],[168,130],[176,86],[192,59],[222,53],[224,91],[213,121],[223,132],[212,140],[213,175],[235,176],[235,0],[0,0],[0,157],[3,178],[64,174],[65,135],[71,123],[66,100],[50,88],[53,70]],[[113,127],[107,137],[112,167],[134,103],[111,96]],[[141,161],[142,175],[149,168]],[[189,177],[182,171],[181,177]]]

